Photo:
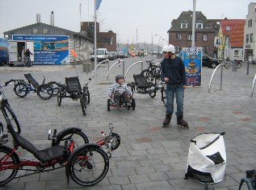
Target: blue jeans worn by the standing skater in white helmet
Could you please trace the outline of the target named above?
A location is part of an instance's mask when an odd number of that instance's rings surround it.
[[[176,116],[183,114],[184,89],[183,84],[166,85],[166,114],[174,113],[174,97],[176,98],[177,112]]]

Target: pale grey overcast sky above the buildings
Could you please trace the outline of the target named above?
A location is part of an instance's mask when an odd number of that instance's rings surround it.
[[[195,10],[207,19],[246,19],[253,0],[196,0]],[[81,5],[81,11],[80,11]],[[98,10],[100,31],[114,31],[120,43],[159,43],[168,40],[171,21],[187,10],[193,0],[102,0]],[[0,0],[0,37],[4,31],[36,23],[50,24],[70,31],[80,31],[81,21],[93,21],[94,0]],[[164,41],[161,41],[164,43]]]

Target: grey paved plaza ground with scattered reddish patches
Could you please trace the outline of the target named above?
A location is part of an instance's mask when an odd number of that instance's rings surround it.
[[[143,60],[159,62],[150,56],[124,59],[126,72],[132,63]],[[110,66],[117,60],[110,62]],[[220,68],[213,77],[211,92],[208,85],[212,68],[203,68],[202,87],[190,87],[185,90],[184,118],[190,128],[176,125],[176,117],[170,126],[162,128],[165,118],[165,106],[161,101],[160,91],[154,98],[148,94],[134,94],[135,110],[111,108],[107,111],[107,89],[115,81],[115,75],[123,73],[123,64],[116,64],[107,79],[107,64],[99,65],[97,72],[83,72],[83,64],[73,68],[71,65],[33,65],[31,68],[8,66],[0,67],[0,84],[10,79],[25,80],[24,73],[31,75],[41,83],[48,81],[65,83],[65,77],[79,76],[84,85],[89,83],[90,105],[87,114],[82,114],[79,101],[64,98],[61,106],[57,97],[48,101],[40,99],[36,93],[29,93],[20,98],[13,91],[14,84],[3,89],[12,109],[19,119],[21,135],[37,148],[49,147],[48,129],[60,131],[70,126],[80,127],[90,142],[96,142],[101,130],[108,132],[108,123],[113,123],[114,131],[120,134],[121,145],[112,152],[110,169],[107,176],[92,187],[85,188],[70,180],[66,183],[65,169],[26,176],[13,180],[3,189],[43,190],[43,189],[103,189],[103,190],[203,190],[205,185],[189,178],[184,180],[187,166],[187,154],[191,138],[201,133],[225,132],[227,167],[225,180],[212,184],[216,190],[238,189],[240,180],[247,169],[256,168],[256,90],[250,97],[256,65],[247,63],[233,72],[232,68],[223,70],[223,85],[220,90]],[[141,64],[134,65],[127,73],[126,83],[132,82],[132,75],[141,72]],[[256,87],[255,87],[256,88]],[[2,120],[2,114],[0,115]],[[5,122],[3,122],[5,123]],[[6,128],[5,128],[6,130]],[[9,138],[11,141],[11,138]],[[20,158],[31,155],[19,148]],[[18,175],[23,174],[22,171]],[[242,189],[246,189],[243,187]]]

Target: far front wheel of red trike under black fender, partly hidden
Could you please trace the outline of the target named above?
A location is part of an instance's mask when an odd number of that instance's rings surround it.
[[[74,149],[89,143],[89,139],[86,134],[81,131],[70,131],[69,134],[62,134],[57,138],[57,145],[64,146],[65,141],[74,142]]]

